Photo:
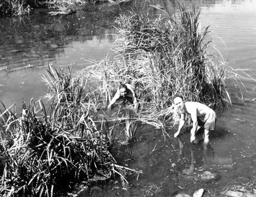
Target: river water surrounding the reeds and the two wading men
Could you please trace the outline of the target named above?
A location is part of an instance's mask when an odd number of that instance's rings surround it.
[[[148,5],[162,7],[163,2],[172,9],[169,1],[130,1],[66,16],[0,19],[0,101],[20,108],[23,98],[27,102],[40,99],[47,91],[40,77],[49,63],[56,68],[72,66],[75,75],[90,64],[87,60],[101,60],[112,53],[117,38],[113,24],[122,11],[133,8],[159,14]],[[201,27],[210,25],[213,42],[209,50],[216,48],[229,66],[256,78],[256,1],[196,3],[201,9]],[[121,164],[143,174],[128,176],[126,189],[118,183],[95,186],[91,196],[171,196],[192,194],[199,188],[207,189],[210,196],[221,185],[255,180],[256,82],[242,81],[247,87],[242,95],[229,85],[233,105],[218,118],[210,147],[191,145],[188,134],[167,138],[164,143],[161,131],[143,125],[137,129],[133,146],[121,145],[116,153]],[[175,130],[167,132],[172,136]],[[217,173],[219,179],[196,184],[194,177],[206,170]]]

